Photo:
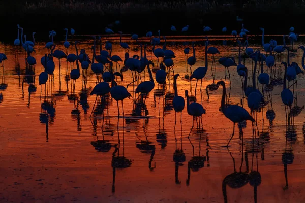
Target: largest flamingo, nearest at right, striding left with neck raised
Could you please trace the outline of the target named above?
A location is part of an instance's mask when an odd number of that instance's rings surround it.
[[[221,85],[223,87],[223,94],[221,98],[221,110],[225,117],[230,119],[233,122],[233,133],[232,136],[227,144],[226,147],[229,146],[235,131],[235,123],[240,123],[245,120],[250,120],[255,122],[255,120],[252,118],[252,116],[248,113],[248,111],[238,105],[225,105],[225,98],[226,98],[226,85],[224,81],[217,82],[218,85]]]

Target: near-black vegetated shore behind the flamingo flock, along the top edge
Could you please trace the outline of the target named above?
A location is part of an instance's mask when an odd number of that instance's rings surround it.
[[[295,26],[298,33],[305,31],[301,20],[291,20],[305,17],[305,4],[296,0],[244,1],[239,10],[233,1],[216,0],[16,0],[0,6],[2,18],[9,19],[2,23],[7,30],[4,38],[9,40],[15,39],[17,24],[25,31],[37,33],[73,27],[78,34],[103,34],[105,27],[112,25],[115,32],[122,30],[140,36],[158,29],[162,30],[161,35],[168,35],[171,25],[176,26],[178,34],[186,25],[190,25],[189,35],[203,34],[204,25],[215,34],[226,26],[229,33],[241,28],[237,15],[251,33],[260,33],[258,27],[265,27],[266,33],[285,33],[290,26]],[[116,20],[119,25],[115,25]]]

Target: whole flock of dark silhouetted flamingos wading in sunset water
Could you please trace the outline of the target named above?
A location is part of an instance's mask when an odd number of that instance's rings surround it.
[[[14,41],[14,46],[22,46],[24,51],[26,52],[26,68],[28,70],[33,70],[35,72],[35,66],[37,66],[36,57],[35,57],[35,33],[32,33],[33,41],[29,41],[26,39],[26,35],[23,35],[23,28],[20,25],[18,27],[18,35],[17,39]],[[186,25],[182,28],[182,32],[188,32],[189,25]],[[197,118],[202,123],[203,114],[208,114],[208,110],[204,108],[204,103],[198,103],[196,94],[197,94],[197,86],[198,81],[200,80],[200,92],[202,92],[202,80],[206,78],[208,74],[212,75],[213,83],[206,87],[206,91],[216,91],[219,87],[222,87],[222,98],[220,102],[221,112],[223,115],[228,118],[231,122],[233,122],[233,133],[226,145],[229,147],[229,144],[234,136],[235,124],[242,123],[246,120],[249,120],[255,126],[258,122],[256,112],[262,106],[268,104],[268,89],[272,89],[276,85],[283,85],[283,90],[281,93],[281,100],[285,107],[286,118],[291,119],[289,117],[289,112],[291,112],[291,108],[296,106],[297,102],[297,79],[299,74],[303,74],[303,70],[305,69],[304,59],[305,59],[305,47],[299,45],[297,50],[303,51],[302,56],[302,64],[301,67],[296,63],[290,63],[290,52],[296,52],[294,50],[294,42],[297,41],[298,35],[293,31],[290,31],[289,35],[287,35],[288,39],[291,42],[292,47],[286,45],[286,35],[283,35],[283,45],[278,45],[277,41],[270,40],[269,43],[265,42],[265,30],[264,28],[260,28],[262,31],[262,39],[261,39],[261,48],[254,49],[251,48],[248,35],[250,33],[249,30],[244,28],[244,24],[242,24],[242,28],[240,33],[238,34],[236,30],[231,32],[232,40],[237,43],[238,47],[238,63],[235,62],[235,58],[232,56],[220,57],[218,59],[218,63],[221,64],[225,69],[225,75],[223,80],[215,82],[216,76],[216,55],[220,55],[221,52],[218,48],[211,46],[211,41],[209,41],[208,37],[203,38],[204,47],[199,47],[197,49],[204,49],[205,53],[205,66],[197,66],[198,56],[196,55],[196,47],[195,42],[192,42],[192,47],[184,47],[181,52],[185,54],[185,74],[184,77],[181,77],[182,80],[187,80],[190,82],[190,89],[186,89],[184,92],[184,97],[182,97],[181,92],[178,94],[177,88],[177,79],[182,73],[177,73],[175,71],[175,53],[168,49],[166,37],[161,37],[161,31],[158,30],[158,35],[153,36],[153,32],[148,31],[144,38],[149,38],[150,43],[145,44],[142,42],[142,38],[140,38],[137,34],[133,34],[131,39],[135,41],[136,44],[140,46],[139,55],[130,56],[129,52],[131,50],[130,46],[127,42],[124,42],[122,39],[123,32],[118,31],[119,33],[119,45],[122,50],[124,50],[124,56],[120,57],[119,55],[112,54],[112,44],[109,40],[105,42],[105,50],[102,50],[102,40],[101,37],[97,39],[97,36],[91,36],[93,39],[93,45],[91,51],[93,52],[92,57],[89,57],[88,50],[81,49],[80,52],[78,50],[78,46],[81,42],[77,40],[72,40],[73,36],[75,36],[75,30],[70,29],[71,39],[68,39],[69,29],[65,28],[65,40],[63,44],[55,44],[54,37],[57,33],[54,30],[49,32],[49,38],[51,38],[50,42],[45,44],[46,54],[41,58],[41,64],[43,66],[43,71],[39,75],[39,85],[45,85],[49,80],[52,79],[52,75],[55,69],[55,63],[53,58],[58,59],[59,62],[59,70],[62,64],[62,60],[66,60],[67,64],[70,63],[70,70],[67,72],[70,73],[70,78],[73,80],[73,89],[75,91],[75,83],[78,80],[86,81],[88,77],[88,71],[92,71],[96,76],[96,85],[93,88],[90,95],[95,95],[95,103],[100,99],[104,100],[104,97],[111,96],[117,103],[118,116],[120,116],[119,110],[119,101],[121,101],[121,112],[124,117],[124,107],[123,100],[126,98],[133,98],[134,103],[142,101],[143,106],[145,105],[145,101],[147,95],[153,91],[156,83],[158,84],[158,88],[160,84],[171,83],[171,78],[173,81],[174,88],[174,98],[172,101],[173,109],[176,113],[181,114],[181,125],[182,125],[182,112],[185,109],[185,103],[187,105],[187,113],[191,116],[192,123],[194,126],[194,120],[197,121]],[[171,26],[170,30],[173,32],[176,31],[175,26]],[[293,29],[294,30],[294,29]],[[20,35],[21,31],[21,35]],[[212,29],[208,26],[203,27],[204,32],[211,32]],[[222,29],[223,32],[227,32],[227,28],[224,27]],[[113,35],[114,31],[110,28],[105,28],[105,33],[107,35]],[[24,40],[23,40],[24,39]],[[161,41],[164,41],[163,46],[159,46]],[[99,44],[100,52],[97,53],[97,44]],[[71,46],[72,45],[72,46]],[[75,53],[73,52],[73,45],[75,47]],[[63,46],[65,49],[61,51],[58,48],[59,46]],[[147,47],[152,46],[151,51],[151,59],[147,57]],[[159,47],[158,47],[159,46]],[[242,48],[241,48],[242,47]],[[16,49],[17,50],[17,49]],[[287,62],[280,62],[281,55],[284,54],[285,50],[287,50]],[[191,53],[190,53],[191,52]],[[143,54],[144,53],[144,54]],[[189,54],[191,56],[189,57]],[[208,54],[212,55],[211,68],[208,70]],[[155,56],[155,62],[153,60],[153,55]],[[15,56],[18,56],[18,52],[15,53]],[[278,56],[278,62],[276,61],[276,56]],[[91,58],[91,59],[90,59]],[[4,69],[4,60],[6,60],[6,55],[0,53],[0,62],[2,63]],[[245,63],[245,59],[248,59],[248,64]],[[241,62],[243,60],[243,63]],[[251,63],[250,63],[251,61]],[[74,67],[74,63],[76,63],[76,67]],[[254,63],[254,67],[253,67]],[[115,67],[113,67],[115,64]],[[196,67],[197,66],[197,67]],[[266,66],[266,67],[264,67]],[[284,76],[281,75],[282,69],[284,66]],[[90,68],[90,69],[89,69]],[[131,71],[132,81],[125,87],[122,86],[117,81],[117,77],[120,80],[123,80],[123,72]],[[147,71],[149,75],[149,79],[145,80],[145,71]],[[250,109],[250,113],[243,108],[243,104],[240,105],[232,105],[229,103],[229,97],[227,95],[227,87],[232,86],[231,83],[231,74],[232,71],[235,71],[241,80],[240,89],[242,95],[244,95],[248,99],[248,107]],[[155,77],[153,75],[155,72]],[[173,73],[171,76],[170,73]],[[227,83],[227,72],[229,77],[229,83]],[[176,74],[175,74],[176,73]],[[190,73],[190,76],[189,76]],[[252,77],[250,77],[252,76]],[[194,95],[192,96],[192,81],[196,79],[196,86]],[[252,82],[250,82],[252,79]],[[290,84],[289,84],[290,83]],[[129,86],[132,85],[133,92],[130,93]],[[259,87],[261,86],[261,88]],[[296,87],[296,89],[295,89]],[[208,97],[209,98],[209,97]],[[185,100],[186,99],[186,100]],[[94,108],[90,117],[92,116]],[[176,116],[175,116],[175,126],[176,126]],[[192,128],[193,128],[192,126]]]

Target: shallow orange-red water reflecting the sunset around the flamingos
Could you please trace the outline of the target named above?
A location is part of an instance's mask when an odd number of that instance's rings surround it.
[[[230,39],[227,39],[228,46],[220,45],[224,38],[210,39],[210,46],[216,46],[221,53],[215,55],[215,82],[223,80],[225,75],[224,67],[217,62],[219,57],[234,56],[238,61],[238,46]],[[252,39],[251,47],[262,49],[252,44],[260,42],[260,39]],[[278,43],[282,44],[280,39],[277,39]],[[195,70],[205,65],[204,46],[200,45],[204,41],[193,40],[197,41]],[[111,41],[112,55],[124,58],[124,50],[117,38]],[[174,70],[181,76],[177,79],[178,94],[183,97],[186,89],[190,91],[190,82],[184,79],[183,49],[187,46],[182,45],[184,41],[190,43],[192,39],[169,38],[167,43],[167,48],[176,55]],[[130,55],[139,54],[139,46],[131,41],[128,43],[132,48]],[[56,49],[64,50],[62,44],[58,42]],[[78,48],[86,49],[91,57],[91,46],[92,41],[82,41]],[[202,93],[198,86],[196,95],[206,114],[202,116],[202,124],[194,121],[191,131],[192,117],[187,114],[186,107],[182,112],[182,126],[178,113],[174,130],[172,73],[170,82],[164,86],[156,84],[147,95],[146,116],[141,111],[143,106],[133,103],[137,95],[134,95],[131,85],[128,91],[133,98],[124,100],[124,117],[122,114],[117,116],[117,104],[110,96],[104,100],[107,104],[104,116],[100,105],[99,111],[94,111],[90,119],[96,97],[89,96],[89,93],[96,84],[95,74],[88,69],[86,83],[81,76],[76,81],[74,93],[72,81],[65,79],[66,74],[70,75],[67,73],[70,64],[62,61],[59,72],[58,60],[54,58],[54,83],[48,84],[48,95],[51,96],[44,96],[44,86],[40,96],[38,76],[43,70],[40,58],[47,51],[44,43],[35,45],[35,48],[35,75],[28,75],[24,51],[20,48],[15,58],[13,46],[0,46],[0,52],[8,57],[4,77],[1,74],[0,90],[1,202],[223,202],[223,183],[227,183],[228,202],[254,202],[255,196],[258,202],[305,201],[304,113],[293,117],[293,126],[286,124],[280,98],[282,85],[276,85],[271,91],[272,105],[269,102],[258,112],[255,131],[249,121],[247,127],[242,128],[243,145],[236,125],[235,136],[226,148],[223,146],[230,139],[233,123],[220,111],[222,88],[210,91],[209,99],[205,91],[206,86],[213,82],[210,70],[212,56],[208,56],[209,69],[202,81]],[[151,48],[148,47],[149,59]],[[75,53],[74,46],[70,52]],[[192,50],[189,56],[191,54]],[[298,51],[291,53],[290,60],[300,65],[301,57],[302,52]],[[281,54],[281,60],[287,60],[287,51]],[[157,64],[155,57],[153,61]],[[248,59],[245,64],[248,66]],[[229,103],[241,105],[240,78],[236,67],[229,67],[229,70],[232,81],[231,89],[229,81],[226,81]],[[281,70],[284,70],[283,66]],[[132,75],[130,71],[123,72],[123,75],[123,81],[118,79],[117,83],[126,86],[132,81]],[[155,78],[155,73],[153,75]],[[149,79],[147,71],[145,79]],[[193,95],[194,85],[195,80],[192,82]],[[250,112],[247,99],[243,101],[243,107]],[[297,105],[303,107],[304,103],[305,79],[300,74]],[[272,121],[266,117],[267,110],[271,109],[276,113]],[[175,154],[176,149],[179,151]],[[234,165],[236,172],[243,173],[225,178],[234,172]],[[256,195],[254,179],[251,179],[255,172],[252,171],[259,171],[261,175]]]

